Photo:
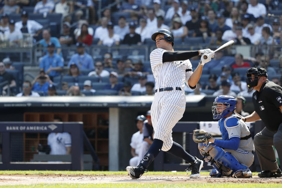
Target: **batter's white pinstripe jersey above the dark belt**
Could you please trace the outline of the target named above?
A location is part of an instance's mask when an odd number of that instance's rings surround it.
[[[157,48],[150,54],[152,72],[155,78],[155,88],[181,87],[185,86],[185,74],[192,75],[192,64],[188,60],[162,62],[162,55],[166,50]],[[186,72],[187,69],[191,71]]]

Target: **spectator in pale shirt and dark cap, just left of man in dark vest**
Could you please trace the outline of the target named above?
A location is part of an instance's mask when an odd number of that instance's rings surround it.
[[[19,46],[21,43],[21,39],[23,38],[23,34],[20,30],[15,29],[15,21],[10,20],[9,22],[9,30],[4,33],[5,38],[7,38],[10,42],[10,46]]]

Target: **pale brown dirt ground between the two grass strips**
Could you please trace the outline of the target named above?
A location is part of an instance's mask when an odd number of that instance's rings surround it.
[[[282,178],[212,178],[202,175],[189,179],[188,175],[143,175],[131,179],[127,175],[0,175],[0,185],[39,183],[282,183]]]

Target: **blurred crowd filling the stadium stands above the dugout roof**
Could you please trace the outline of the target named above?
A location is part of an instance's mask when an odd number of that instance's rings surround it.
[[[24,80],[24,62],[13,61],[18,56],[15,51],[2,58],[0,83],[9,83],[1,86],[2,95],[153,95],[155,80],[150,61],[145,61],[150,51],[141,56],[114,55],[111,47],[153,49],[151,35],[160,28],[172,31],[175,50],[187,45],[216,48],[229,40],[250,47],[250,56],[231,50],[216,53],[204,67],[198,88],[185,88],[189,95],[252,95],[244,80],[246,70],[254,65],[265,68],[271,81],[281,85],[280,1],[128,0],[109,8],[111,3],[115,1],[1,1],[0,43],[21,47],[28,34],[33,45],[42,48],[40,71],[33,80]],[[41,15],[50,20],[57,14],[63,16],[57,27],[34,19]],[[254,45],[258,48],[251,48]],[[93,56],[89,48],[99,46],[107,46],[108,51]],[[76,51],[70,55],[71,47]],[[192,65],[198,58],[190,60]]]

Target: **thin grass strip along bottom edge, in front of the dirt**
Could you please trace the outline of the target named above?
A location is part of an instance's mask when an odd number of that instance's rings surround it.
[[[29,187],[43,187],[43,188],[278,188],[281,187],[280,184],[234,184],[234,183],[218,183],[218,184],[210,184],[210,183],[179,183],[179,184],[153,184],[153,183],[114,183],[114,184],[36,184],[36,185],[5,185],[1,187],[6,188],[29,188]]]

